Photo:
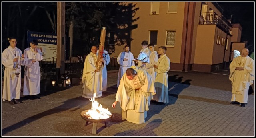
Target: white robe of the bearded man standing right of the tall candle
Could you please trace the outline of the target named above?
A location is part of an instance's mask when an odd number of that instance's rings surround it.
[[[121,57],[122,52],[118,55],[118,57],[116,58],[116,61],[118,62],[118,64],[120,65],[119,67],[119,71],[118,71],[118,77],[117,77],[117,84],[116,86],[118,87],[120,84],[120,80],[122,78],[122,76],[124,75],[124,73],[126,72],[127,68],[130,68],[131,66],[135,66],[134,64],[134,56],[132,54],[132,52],[124,52],[124,57]],[[124,58],[127,58],[128,61],[124,61]],[[122,60],[120,62],[120,60]]]

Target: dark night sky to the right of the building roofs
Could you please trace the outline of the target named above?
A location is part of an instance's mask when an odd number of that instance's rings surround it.
[[[254,51],[254,6],[255,2],[218,2],[223,8],[223,15],[226,19],[230,19],[232,15],[232,23],[240,23],[242,26],[241,42],[248,41],[251,50]]]

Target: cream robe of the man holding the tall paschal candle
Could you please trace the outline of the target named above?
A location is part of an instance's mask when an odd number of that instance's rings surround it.
[[[91,99],[94,94],[96,95],[94,98],[102,96],[102,68],[98,72],[95,71],[97,69],[97,55],[90,52],[84,61],[82,97]]]

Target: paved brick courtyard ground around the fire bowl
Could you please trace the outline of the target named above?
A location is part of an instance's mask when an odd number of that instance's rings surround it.
[[[168,72],[169,103],[150,103],[145,124],[122,121],[119,103],[112,108],[117,74],[108,72],[108,90],[96,99],[112,113],[107,127],[98,123],[97,134],[80,116],[91,102],[77,85],[45,91],[41,99],[22,97],[21,104],[2,101],[2,136],[255,136],[254,93],[244,108],[231,105],[225,73]]]

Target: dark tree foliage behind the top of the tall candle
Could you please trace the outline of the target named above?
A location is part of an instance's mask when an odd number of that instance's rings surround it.
[[[132,23],[134,15],[139,8],[136,4],[127,2],[66,2],[66,31],[70,21],[74,21],[73,50],[74,52],[90,52],[92,45],[99,45],[101,27],[106,27],[105,49],[115,51],[110,43],[115,45],[130,44],[130,32],[134,27]],[[114,42],[111,42],[110,35],[115,35]],[[79,44],[78,44],[79,42]],[[78,45],[74,45],[74,44]],[[82,49],[81,49],[82,47]],[[80,53],[79,53],[80,54]]]

